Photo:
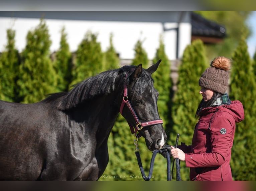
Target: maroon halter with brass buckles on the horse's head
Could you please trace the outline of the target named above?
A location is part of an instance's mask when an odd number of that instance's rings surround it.
[[[121,115],[123,115],[123,108],[124,108],[124,105],[126,104],[127,107],[129,108],[129,110],[131,111],[131,113],[133,115],[133,118],[136,121],[135,131],[134,131],[133,125],[130,124],[127,121],[129,126],[130,126],[131,133],[134,134],[134,136],[136,136],[137,138],[139,138],[139,137],[141,137],[141,135],[138,132],[138,130],[141,130],[143,127],[147,127],[147,126],[163,124],[163,120],[162,119],[157,119],[157,120],[152,120],[152,121],[147,121],[147,122],[140,122],[140,120],[139,120],[138,116],[136,115],[136,113],[135,113],[135,111],[132,107],[132,104],[131,104],[131,102],[128,98],[128,88],[126,86],[126,79],[127,79],[127,74],[126,74],[126,77],[125,77],[124,96],[123,96],[123,100],[122,100],[122,103],[121,103],[121,106],[120,106],[120,113],[121,113]],[[138,134],[137,134],[137,132],[138,132]]]

